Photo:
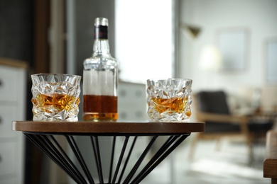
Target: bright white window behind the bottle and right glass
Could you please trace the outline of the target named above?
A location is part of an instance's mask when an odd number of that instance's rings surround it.
[[[173,13],[168,0],[116,0],[116,48],[119,79],[173,76]]]

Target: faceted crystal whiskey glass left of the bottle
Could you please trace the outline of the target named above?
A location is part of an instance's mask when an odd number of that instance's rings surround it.
[[[34,121],[77,121],[81,76],[31,75]]]

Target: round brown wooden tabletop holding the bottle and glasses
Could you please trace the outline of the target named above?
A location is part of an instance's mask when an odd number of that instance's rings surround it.
[[[204,122],[45,122],[13,121],[12,130],[44,133],[183,134],[204,132]]]

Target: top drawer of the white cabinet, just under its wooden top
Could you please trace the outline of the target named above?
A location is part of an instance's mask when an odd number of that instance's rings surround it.
[[[11,67],[0,67],[0,101],[16,101],[17,85],[22,82],[18,76],[18,69]]]

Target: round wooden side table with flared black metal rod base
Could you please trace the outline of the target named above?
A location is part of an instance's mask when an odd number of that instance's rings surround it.
[[[140,183],[143,178],[153,171],[163,159],[165,159],[191,132],[203,132],[204,122],[34,122],[14,121],[12,130],[21,131],[36,146],[38,146],[50,159],[60,166],[76,183]],[[81,168],[77,168],[72,158],[67,154],[65,148],[59,143],[57,136],[66,139],[68,146],[72,149],[75,158]],[[97,168],[97,176],[92,176],[82,152],[75,142],[76,136],[85,136],[91,139],[94,159]],[[101,146],[99,137],[112,137],[112,148],[110,150],[109,171],[102,170]],[[147,145],[136,145],[139,137],[150,137]],[[165,142],[156,151],[151,159],[145,159],[149,154],[151,146],[160,136],[167,136]],[[116,137],[124,137],[119,158],[114,156]],[[133,137],[131,146],[130,137]],[[136,159],[131,171],[126,171],[132,157],[134,146],[141,147],[141,155]],[[124,154],[127,155],[123,160]],[[115,165],[114,165],[115,164]],[[105,180],[104,172],[109,172],[109,178]]]

